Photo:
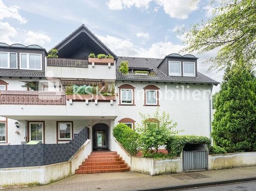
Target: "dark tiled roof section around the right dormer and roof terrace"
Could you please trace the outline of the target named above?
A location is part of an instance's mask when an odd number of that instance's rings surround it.
[[[160,69],[157,68],[163,59],[156,58],[136,58],[117,56],[116,61],[116,79],[117,80],[133,80],[133,81],[159,81],[159,82],[183,82],[183,83],[203,83],[203,84],[219,84],[219,82],[201,74],[197,73],[197,77],[188,76],[166,76]],[[129,68],[145,68],[153,69],[157,76],[144,75],[123,75],[118,68],[121,61],[128,61]]]

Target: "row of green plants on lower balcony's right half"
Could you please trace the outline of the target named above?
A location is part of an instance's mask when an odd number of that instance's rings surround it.
[[[114,96],[115,95],[115,84],[99,83],[90,85],[68,85],[66,86],[66,95],[103,95],[103,96]]]

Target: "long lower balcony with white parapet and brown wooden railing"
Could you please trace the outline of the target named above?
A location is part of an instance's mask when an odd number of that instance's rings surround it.
[[[116,97],[0,91],[0,116],[16,120],[115,119]]]

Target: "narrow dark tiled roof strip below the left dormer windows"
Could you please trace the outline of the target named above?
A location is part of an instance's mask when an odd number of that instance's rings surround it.
[[[0,76],[43,77],[43,70],[0,69]]]

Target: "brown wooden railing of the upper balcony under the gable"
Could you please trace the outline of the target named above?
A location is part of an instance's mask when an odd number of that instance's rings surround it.
[[[72,58],[47,58],[47,66],[88,68],[88,60]]]

